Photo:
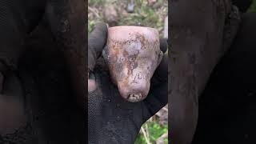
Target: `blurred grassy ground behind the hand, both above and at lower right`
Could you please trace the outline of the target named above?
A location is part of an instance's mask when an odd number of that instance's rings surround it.
[[[109,26],[149,26],[160,38],[168,38],[167,0],[89,0],[88,35],[97,22]],[[136,144],[168,143],[168,106],[159,110],[142,126]]]

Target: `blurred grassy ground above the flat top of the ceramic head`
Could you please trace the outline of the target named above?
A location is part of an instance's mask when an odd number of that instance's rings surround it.
[[[110,26],[153,27],[163,38],[167,13],[167,0],[89,0],[88,32],[95,23],[106,22]]]

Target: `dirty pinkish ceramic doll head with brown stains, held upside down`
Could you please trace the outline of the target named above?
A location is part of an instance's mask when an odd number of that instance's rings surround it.
[[[141,26],[115,26],[108,30],[103,57],[113,82],[129,102],[146,98],[150,78],[162,60],[158,31]]]

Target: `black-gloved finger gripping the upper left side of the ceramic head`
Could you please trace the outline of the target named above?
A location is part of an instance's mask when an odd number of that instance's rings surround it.
[[[88,39],[88,68],[94,70],[97,58],[102,54],[103,47],[106,45],[107,26],[106,23],[98,23]]]

